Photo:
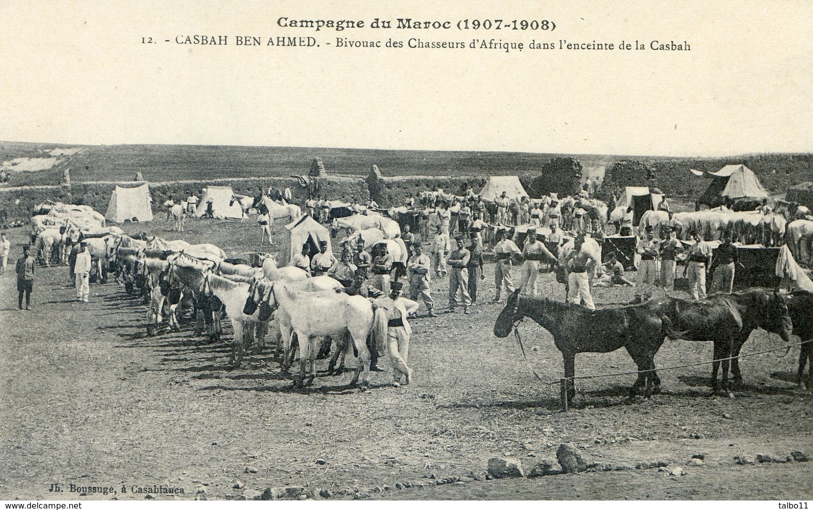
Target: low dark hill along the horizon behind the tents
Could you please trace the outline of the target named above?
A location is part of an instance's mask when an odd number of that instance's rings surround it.
[[[57,149],[57,150],[54,150]],[[80,149],[76,153],[73,150]],[[716,170],[728,163],[745,163],[772,193],[813,179],[811,154],[754,154],[733,158],[652,158],[556,153],[446,152],[424,150],[320,149],[303,147],[240,147],[217,145],[63,145],[0,142],[2,161],[17,158],[58,158],[47,170],[12,171],[12,186],[59,184],[63,169],[78,181],[133,180],[137,172],[157,182],[176,179],[306,175],[311,160],[320,157],[328,172],[367,175],[376,164],[385,176],[518,175],[525,183],[540,175],[551,158],[576,158],[585,176],[603,174],[615,162],[637,160],[655,169],[656,179],[641,176],[637,185],[656,185],[671,195],[694,196],[705,189],[704,179],[689,169]],[[20,166],[17,166],[18,168]]]

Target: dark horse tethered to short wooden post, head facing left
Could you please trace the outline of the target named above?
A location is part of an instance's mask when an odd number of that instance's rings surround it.
[[[590,310],[579,305],[567,305],[546,298],[520,295],[508,296],[506,307],[494,323],[494,335],[505,338],[520,320],[532,318],[550,331],[554,344],[562,352],[567,382],[567,399],[576,395],[572,378],[576,375],[576,354],[579,352],[612,352],[626,348],[639,374],[632,395],[644,385],[647,396],[658,391],[660,380],[655,374],[654,357],[665,336],[676,338],[668,322],[644,306]],[[653,390],[654,384],[654,390]]]

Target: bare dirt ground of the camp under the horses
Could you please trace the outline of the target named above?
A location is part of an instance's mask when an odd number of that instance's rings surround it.
[[[138,227],[180,237],[163,220]],[[187,227],[186,240],[214,242],[230,255],[264,248],[254,222]],[[24,232],[11,231],[11,241],[13,266]],[[633,376],[585,380],[573,408],[561,413],[559,388],[537,381],[513,336],[494,337],[501,307],[486,304],[492,264],[485,275],[471,316],[411,322],[411,385],[396,388],[389,372],[374,373],[365,393],[346,387],[350,373],[320,374],[313,386],[293,390],[271,352],[228,370],[228,346],[207,344],[189,329],[146,337],[145,309],[123,287],[92,285],[90,302],[78,303],[65,266],[38,270],[33,311],[20,311],[14,276],[4,274],[0,499],[143,499],[133,486],[184,489],[157,499],[237,499],[285,486],[303,486],[316,499],[323,489],[339,499],[811,498],[811,462],[734,460],[813,455],[811,395],[794,383],[798,348],[783,358],[743,359],[746,383],[734,399],[710,396],[711,366],[699,365],[663,371],[663,394],[633,404],[625,402]],[[551,274],[541,282],[544,294],[563,299]],[[432,288],[442,312],[446,280]],[[599,305],[632,298],[628,288],[594,291]],[[529,321],[520,332],[541,378],[561,377],[550,335]],[[779,344],[757,331],[743,351]],[[710,359],[711,345],[667,340],[656,363]],[[326,365],[320,361],[320,369]],[[576,357],[577,375],[634,369],[624,351]],[[519,457],[527,472],[543,458],[555,460],[567,442],[589,462],[619,470],[475,480],[489,457]],[[687,465],[696,454],[704,464]],[[635,468],[657,461],[687,474]],[[54,483],[64,492],[50,492]],[[81,496],[68,492],[70,484],[116,492]]]

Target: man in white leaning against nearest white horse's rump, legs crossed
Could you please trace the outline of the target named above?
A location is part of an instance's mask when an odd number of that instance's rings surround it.
[[[387,315],[387,353],[393,365],[393,386],[401,386],[402,376],[405,384],[412,381],[412,370],[409,362],[409,340],[412,332],[406,318],[418,311],[418,304],[401,296],[401,282],[390,285],[389,296],[378,298],[375,302]]]

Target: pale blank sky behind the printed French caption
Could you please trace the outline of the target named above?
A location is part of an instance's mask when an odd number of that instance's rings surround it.
[[[430,3],[6,0],[0,140],[813,152],[813,2]],[[557,28],[314,32],[280,28],[280,16],[393,25],[399,17],[552,19]],[[174,42],[194,34],[228,35],[229,45]],[[237,35],[263,46],[233,45]],[[320,47],[264,45],[277,36],[315,37]],[[347,49],[337,37],[382,45],[494,38],[525,49]],[[533,39],[638,40],[647,50],[529,50]],[[689,41],[691,51],[650,50],[653,40]]]

